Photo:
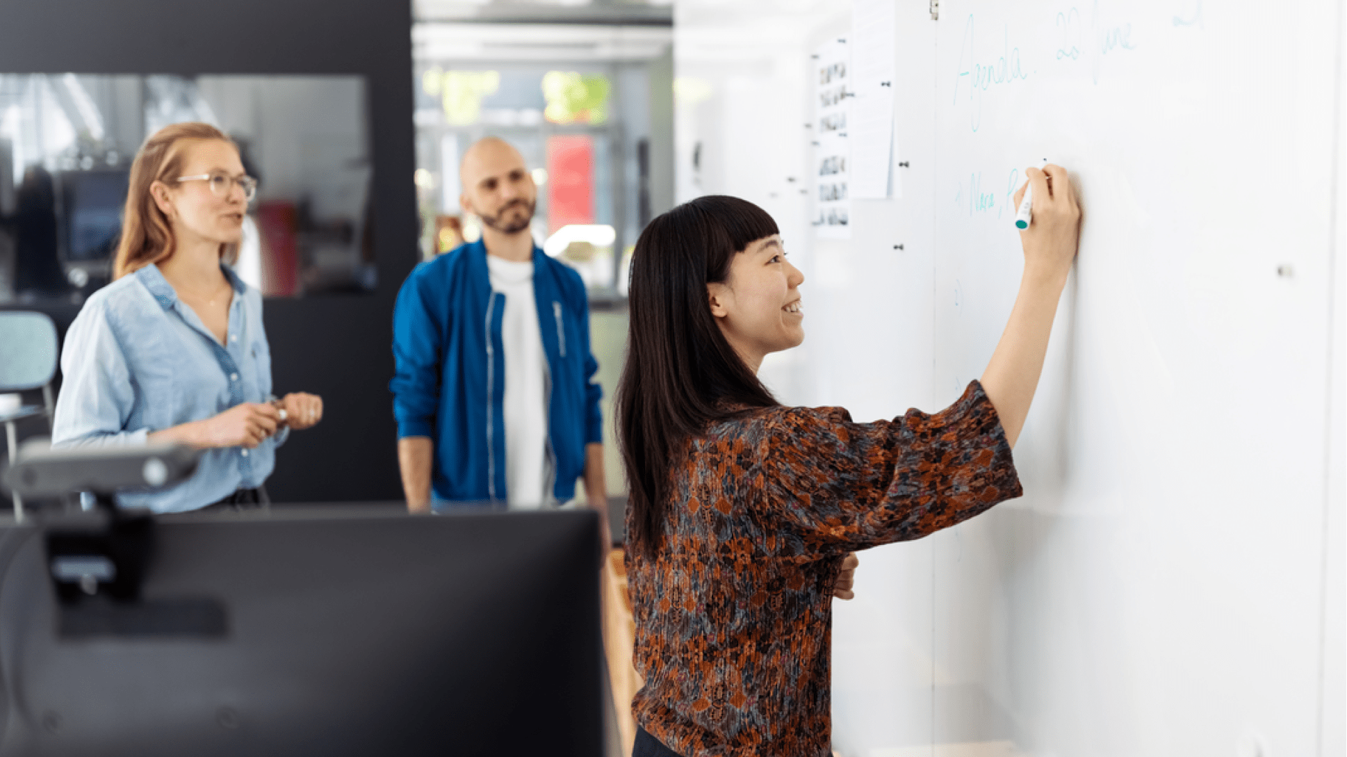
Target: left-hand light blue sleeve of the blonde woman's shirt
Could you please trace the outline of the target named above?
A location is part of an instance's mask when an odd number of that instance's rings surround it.
[[[150,435],[150,428],[127,428],[136,395],[113,318],[98,302],[81,310],[66,331],[51,430],[55,447],[144,445]]]

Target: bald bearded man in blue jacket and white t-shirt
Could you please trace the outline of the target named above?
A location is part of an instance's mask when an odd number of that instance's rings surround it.
[[[412,271],[391,384],[407,506],[564,504],[583,477],[607,543],[602,388],[579,273],[533,244],[537,187],[506,141],[473,144],[459,203],[482,238]]]

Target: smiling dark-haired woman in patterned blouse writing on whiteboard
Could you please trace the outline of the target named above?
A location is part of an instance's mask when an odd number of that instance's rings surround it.
[[[830,599],[850,595],[847,555],[1021,494],[1010,447],[1080,221],[1063,168],[1028,174],[1024,277],[982,380],[890,422],[783,407],[758,381],[764,356],[804,339],[804,276],[765,211],[703,197],[643,232],[617,391],[645,679],[636,757],[828,754]]]

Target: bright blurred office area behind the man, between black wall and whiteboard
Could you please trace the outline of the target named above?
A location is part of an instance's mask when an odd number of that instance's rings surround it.
[[[621,513],[626,482],[612,400],[628,263],[645,224],[674,206],[672,3],[419,0],[412,8],[422,255],[481,236],[458,205],[463,151],[485,136],[519,148],[539,190],[535,242],[589,288],[603,467]]]

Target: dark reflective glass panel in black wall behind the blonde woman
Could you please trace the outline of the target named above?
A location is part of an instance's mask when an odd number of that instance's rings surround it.
[[[131,162],[178,121],[228,133],[259,180],[245,282],[373,291],[366,104],[354,75],[0,74],[0,303],[81,302],[110,280]]]

